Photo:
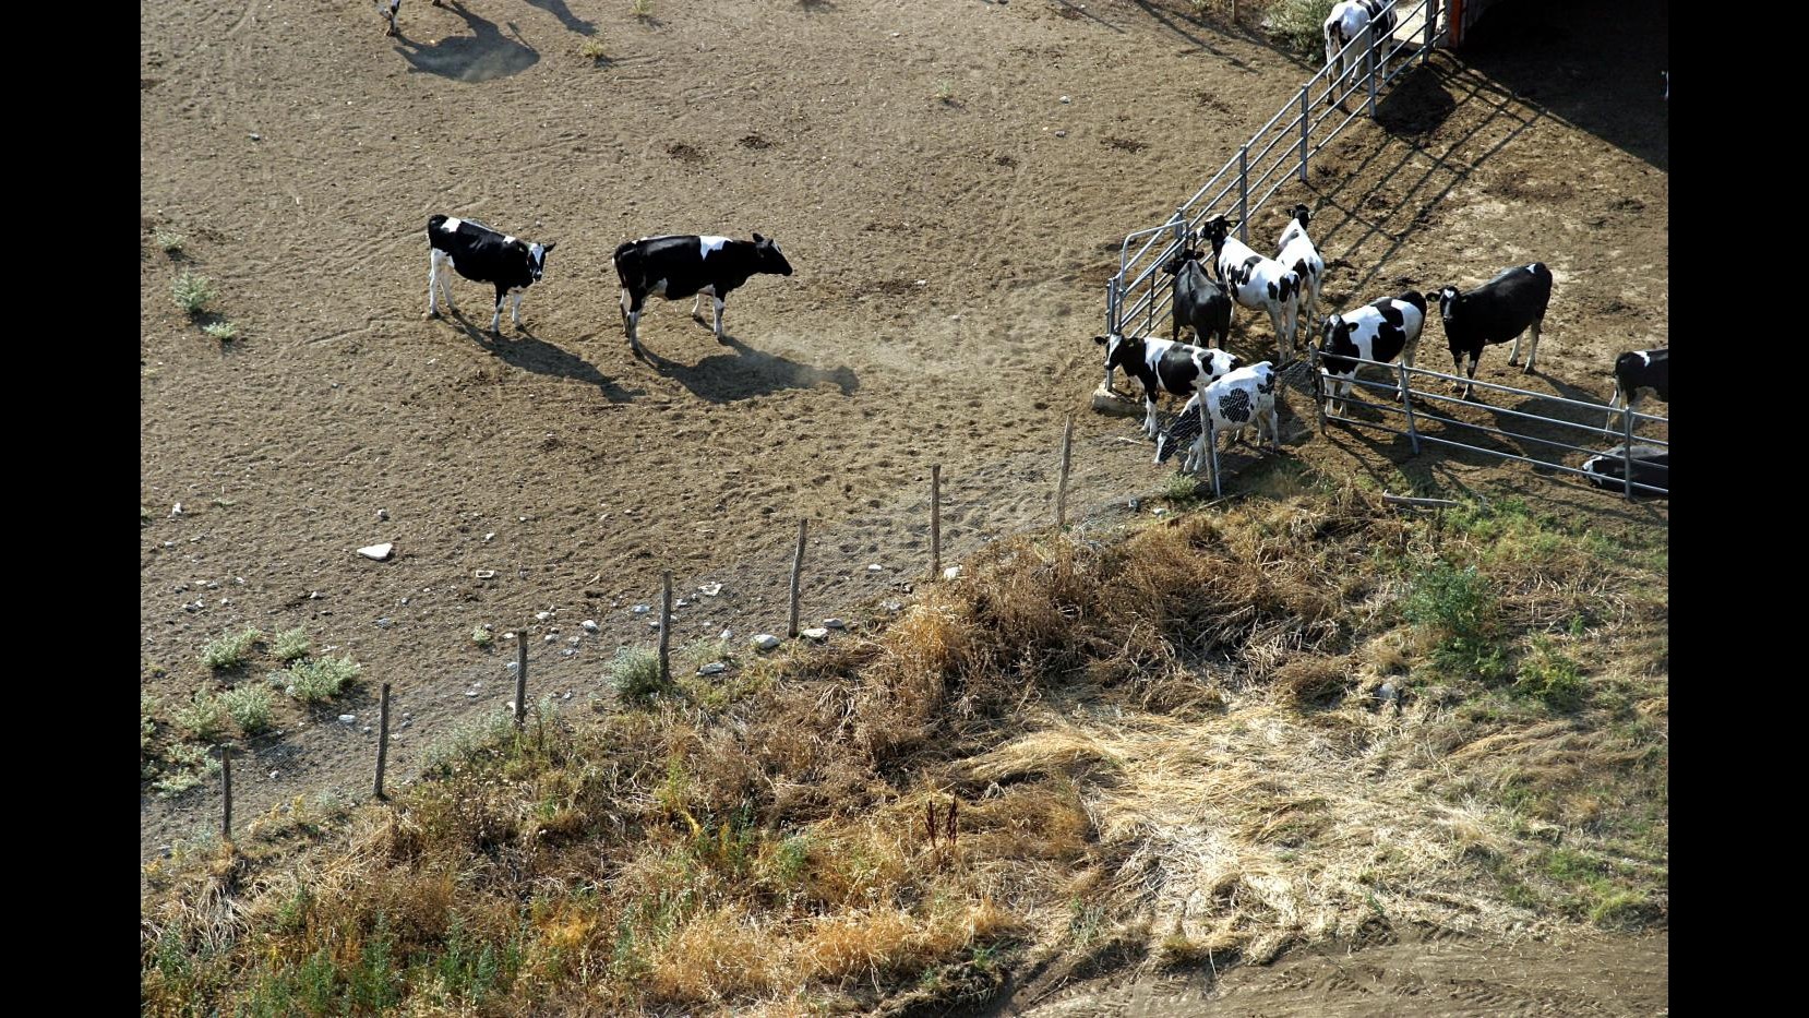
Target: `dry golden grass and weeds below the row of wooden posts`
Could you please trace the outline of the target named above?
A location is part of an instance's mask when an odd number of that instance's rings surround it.
[[[143,1011],[946,1011],[1062,951],[1662,919],[1664,609],[1608,593],[1662,591],[1650,548],[1283,483],[1004,541],[870,638],[264,817],[230,879],[159,872]],[[1539,682],[1435,667],[1402,606],[1440,562],[1489,577],[1491,651]],[[1558,680],[1576,703],[1530,693]]]

